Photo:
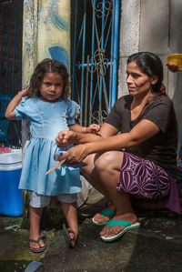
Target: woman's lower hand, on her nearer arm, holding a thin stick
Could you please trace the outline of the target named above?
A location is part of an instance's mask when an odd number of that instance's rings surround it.
[[[74,165],[83,161],[88,155],[86,145],[78,145],[69,148],[66,153],[58,157],[58,160],[61,161],[66,159],[66,164]]]

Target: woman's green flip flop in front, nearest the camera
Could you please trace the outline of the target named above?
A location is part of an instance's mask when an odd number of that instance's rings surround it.
[[[132,228],[136,228],[136,227],[140,227],[140,223],[136,222],[135,224],[131,224],[129,222],[123,221],[123,220],[110,220],[107,223],[107,227],[114,227],[114,226],[123,226],[125,227],[121,232],[119,232],[118,234],[116,234],[116,236],[113,237],[104,237],[101,236],[101,239],[105,242],[112,242],[115,241],[116,239],[118,239],[119,237],[122,237],[122,235],[124,235],[124,233],[126,233],[127,230],[132,229]]]

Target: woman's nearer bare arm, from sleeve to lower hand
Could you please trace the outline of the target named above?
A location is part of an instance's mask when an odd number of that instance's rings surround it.
[[[144,119],[128,133],[102,137],[95,142],[74,146],[67,150],[63,156],[60,156],[60,160],[66,158],[68,163],[73,164],[82,161],[89,154],[138,146],[148,138],[157,135],[158,132],[159,128],[156,124]]]

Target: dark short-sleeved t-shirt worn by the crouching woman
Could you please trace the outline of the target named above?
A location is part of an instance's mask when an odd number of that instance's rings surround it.
[[[129,132],[142,119],[155,123],[160,131],[138,146],[126,148],[136,156],[141,156],[162,167],[168,175],[177,175],[177,119],[173,102],[167,96],[158,96],[147,106],[147,110],[131,121],[132,96],[122,96],[116,100],[106,123],[115,126],[121,133]]]

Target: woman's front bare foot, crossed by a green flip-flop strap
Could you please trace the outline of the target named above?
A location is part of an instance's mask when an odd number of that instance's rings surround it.
[[[112,220],[123,220],[126,222],[131,223],[132,225],[136,223],[136,214],[128,213],[125,215],[116,215],[112,218]],[[107,227],[107,225],[102,229],[100,232],[100,236],[102,237],[113,237],[116,236],[118,233],[120,233],[125,227],[123,226],[113,226],[113,227]]]

